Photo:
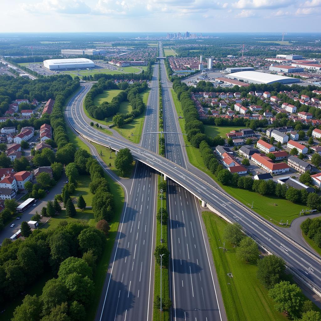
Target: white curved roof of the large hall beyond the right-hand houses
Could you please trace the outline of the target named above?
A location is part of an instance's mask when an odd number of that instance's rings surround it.
[[[271,84],[274,82],[293,83],[299,82],[296,78],[273,75],[268,73],[260,73],[258,71],[240,71],[233,74],[226,75],[227,78],[241,80],[248,83],[265,83]]]

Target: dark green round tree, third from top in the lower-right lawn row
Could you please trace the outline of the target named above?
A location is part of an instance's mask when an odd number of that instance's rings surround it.
[[[268,255],[257,260],[257,278],[268,290],[283,279],[284,271],[285,262],[279,256]]]

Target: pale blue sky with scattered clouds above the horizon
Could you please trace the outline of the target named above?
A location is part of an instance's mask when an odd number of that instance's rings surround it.
[[[0,32],[320,32],[321,0],[1,0]]]

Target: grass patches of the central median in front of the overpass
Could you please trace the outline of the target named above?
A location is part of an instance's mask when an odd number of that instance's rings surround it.
[[[158,182],[161,180],[161,176],[158,176]],[[166,192],[163,193],[165,196],[165,199],[163,199],[163,208],[166,207]],[[157,198],[157,211],[161,207],[161,200]],[[158,245],[165,245],[168,247],[168,233],[167,233],[167,225],[163,225],[163,243],[160,243],[160,237],[161,237],[161,224],[159,221],[156,220],[156,244]],[[169,271],[167,268],[162,268],[162,298],[169,298]],[[160,266],[155,262],[155,271],[154,271],[154,298],[160,295]],[[153,321],[169,321],[169,311],[163,310],[160,312],[160,309],[153,308]]]

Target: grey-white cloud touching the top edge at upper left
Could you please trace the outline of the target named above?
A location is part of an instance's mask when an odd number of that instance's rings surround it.
[[[82,0],[43,0],[35,4],[22,3],[21,8],[30,13],[87,14],[91,12],[91,8]]]

